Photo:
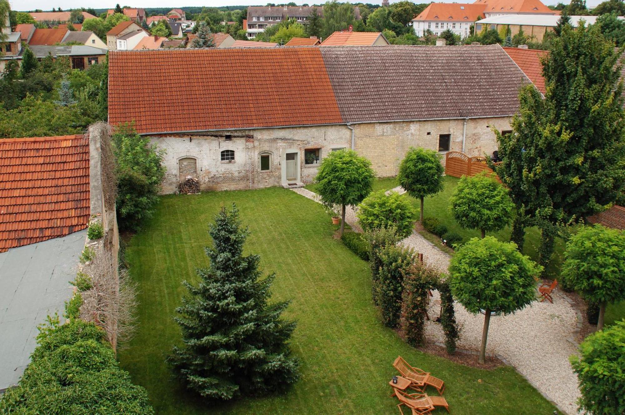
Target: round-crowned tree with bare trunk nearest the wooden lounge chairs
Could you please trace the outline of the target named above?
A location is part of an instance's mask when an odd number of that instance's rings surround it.
[[[513,242],[472,238],[451,259],[449,287],[467,311],[484,313],[479,362],[484,363],[491,312],[510,314],[536,299],[542,267],[521,254]]]

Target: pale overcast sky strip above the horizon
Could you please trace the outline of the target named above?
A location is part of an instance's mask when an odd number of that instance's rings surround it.
[[[71,9],[71,8],[88,8],[92,7],[94,9],[103,9],[103,8],[114,8],[117,0],[9,0],[11,3],[11,7],[14,10],[34,10],[34,9],[42,9],[42,10],[50,10],[52,7],[58,8],[60,7],[63,10]],[[120,4],[124,6],[124,4],[128,4],[130,6],[139,7],[139,8],[161,8],[161,7],[171,7],[178,8],[181,6],[207,6],[207,7],[216,7],[216,6],[238,6],[238,5],[251,5],[251,4],[267,4],[267,1],[259,1],[259,0],[183,0],[183,4],[179,2],[181,0],[119,0]],[[314,2],[323,2],[323,1],[313,1],[313,0],[294,0],[297,4],[303,4],[304,2],[308,4],[312,4]],[[276,4],[282,1],[272,0],[271,2],[275,2]],[[362,0],[353,0],[352,2],[369,2],[369,3],[380,3],[381,1],[362,1]],[[394,2],[391,0],[391,3]],[[448,1],[451,2],[451,1]],[[459,1],[456,1],[459,2]],[[472,1],[467,1],[472,2]],[[557,0],[543,0],[544,4],[556,4]],[[564,3],[568,3],[569,0],[562,1]],[[589,7],[596,6],[599,4],[601,0],[586,0],[586,4]]]

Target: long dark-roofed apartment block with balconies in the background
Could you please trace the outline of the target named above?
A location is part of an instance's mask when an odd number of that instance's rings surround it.
[[[323,16],[323,6],[249,6],[243,29],[246,30],[247,37],[256,37],[257,33],[264,32],[267,27],[288,19],[296,19],[306,25],[312,9],[317,9],[317,14]],[[354,19],[360,18],[360,9],[355,6]]]

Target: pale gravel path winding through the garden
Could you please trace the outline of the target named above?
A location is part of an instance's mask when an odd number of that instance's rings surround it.
[[[314,192],[303,188],[291,190],[319,202],[319,196]],[[401,186],[391,190],[403,191]],[[354,209],[347,207],[345,221],[352,229],[361,231],[357,226]],[[426,264],[447,272],[451,256],[417,232],[413,231],[400,243],[423,254]],[[569,356],[577,352],[577,344],[572,340],[577,335],[577,312],[561,291],[556,289],[554,293],[553,304],[548,301],[534,301],[509,316],[492,316],[486,352],[504,357],[561,411],[574,415],[577,414],[579,389],[577,376],[569,364]],[[433,294],[428,313],[431,320],[426,321],[426,335],[429,339],[442,343],[445,337],[441,325],[434,322],[440,311],[439,294],[437,291]],[[457,346],[461,349],[479,350],[484,316],[469,314],[457,302],[454,308],[460,327]]]

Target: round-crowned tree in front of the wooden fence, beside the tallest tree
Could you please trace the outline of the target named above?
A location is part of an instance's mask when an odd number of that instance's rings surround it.
[[[499,231],[512,221],[514,204],[508,191],[485,173],[462,176],[456,191],[449,198],[451,213],[464,229]]]

